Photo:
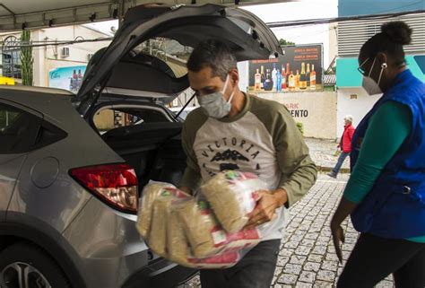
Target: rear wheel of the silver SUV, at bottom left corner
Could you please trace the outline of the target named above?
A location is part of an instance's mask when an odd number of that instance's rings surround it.
[[[22,274],[21,279],[18,272]],[[71,288],[61,268],[46,252],[30,243],[20,242],[0,252],[0,287],[27,287],[19,283],[24,278],[34,287],[41,284],[41,287]],[[28,287],[33,287],[30,284]]]

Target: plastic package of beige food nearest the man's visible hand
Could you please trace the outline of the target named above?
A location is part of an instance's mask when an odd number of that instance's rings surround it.
[[[219,223],[228,232],[240,231],[256,207],[256,191],[267,185],[255,174],[226,170],[204,183],[201,191],[212,205]]]

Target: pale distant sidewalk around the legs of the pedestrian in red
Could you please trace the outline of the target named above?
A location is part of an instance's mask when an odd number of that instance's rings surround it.
[[[338,156],[334,156],[336,151],[336,145],[332,140],[323,140],[315,138],[305,138],[308,148],[310,149],[310,155],[313,161],[315,161],[317,167],[321,171],[330,171],[334,168]],[[350,159],[347,158],[343,162],[341,169],[342,173],[350,172]]]

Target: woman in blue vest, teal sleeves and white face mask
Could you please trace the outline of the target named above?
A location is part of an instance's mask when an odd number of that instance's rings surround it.
[[[360,231],[338,287],[373,287],[390,274],[397,288],[425,287],[425,84],[406,67],[411,36],[388,22],[360,49],[363,88],[383,95],[353,136],[351,178],[331,222],[340,261],[349,214]]]

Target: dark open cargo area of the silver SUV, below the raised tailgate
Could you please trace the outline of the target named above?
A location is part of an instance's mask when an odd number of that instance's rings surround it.
[[[142,123],[108,131],[102,138],[128,164],[143,188],[152,179],[178,185],[186,168],[179,122]]]

